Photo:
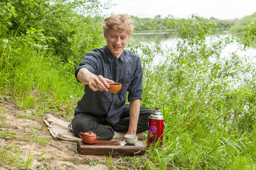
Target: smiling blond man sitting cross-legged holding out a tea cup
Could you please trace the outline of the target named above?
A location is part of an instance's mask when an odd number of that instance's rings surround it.
[[[112,140],[119,132],[137,135],[147,130],[153,110],[140,106],[142,64],[138,55],[124,50],[133,28],[127,14],[106,18],[103,29],[107,45],[87,53],[78,65],[75,77],[85,84],[85,94],[71,123],[75,136],[92,131],[99,140]],[[113,82],[122,84],[117,94],[107,92]]]

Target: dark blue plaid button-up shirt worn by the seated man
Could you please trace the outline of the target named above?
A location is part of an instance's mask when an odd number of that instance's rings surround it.
[[[75,77],[81,68],[87,68],[96,75],[102,75],[116,83],[122,84],[117,94],[107,91],[92,91],[85,85],[85,94],[78,101],[75,114],[90,113],[112,125],[119,122],[124,105],[134,99],[142,100],[142,64],[138,55],[124,50],[117,59],[107,46],[87,53],[75,71]]]

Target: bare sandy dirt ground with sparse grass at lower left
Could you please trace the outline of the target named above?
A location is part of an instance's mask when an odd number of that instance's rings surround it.
[[[0,101],[0,157],[5,155],[4,161],[0,159],[0,169],[19,169],[29,158],[34,158],[29,165],[33,169],[116,169],[107,162],[118,162],[120,157],[80,155],[76,142],[54,140],[43,120],[34,115],[33,110],[24,111],[6,98]],[[3,153],[4,148],[9,156]],[[21,159],[15,161],[15,155]],[[122,162],[122,169],[129,166]]]

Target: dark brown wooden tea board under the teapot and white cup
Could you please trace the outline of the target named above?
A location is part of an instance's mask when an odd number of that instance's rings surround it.
[[[82,140],[78,141],[79,154],[120,154],[120,155],[142,155],[146,147],[141,142],[133,145],[124,141],[98,140],[95,144],[85,144]]]

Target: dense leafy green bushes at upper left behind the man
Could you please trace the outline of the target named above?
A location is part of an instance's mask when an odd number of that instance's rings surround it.
[[[40,30],[41,34],[50,38],[47,40],[48,47],[65,62],[77,60],[89,51],[87,47],[102,45],[104,39],[98,34],[101,25],[97,21],[102,21],[102,18],[97,13],[107,6],[100,4],[100,1],[7,0],[1,2],[0,8],[4,8],[0,23],[3,23],[1,30],[5,38],[26,35],[29,30]],[[90,16],[95,17],[92,19]]]

